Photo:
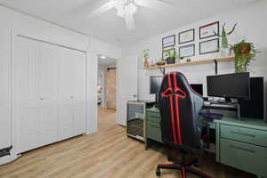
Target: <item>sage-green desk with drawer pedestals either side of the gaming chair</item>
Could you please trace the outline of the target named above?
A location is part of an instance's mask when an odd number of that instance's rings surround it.
[[[162,142],[158,108],[146,109],[146,149],[150,140]],[[267,178],[267,125],[260,119],[223,117],[216,130],[216,162]]]

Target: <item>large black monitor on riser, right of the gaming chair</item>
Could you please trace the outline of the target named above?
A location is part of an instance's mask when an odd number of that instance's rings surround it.
[[[231,98],[249,99],[250,78],[248,72],[207,76],[207,95],[224,97],[229,101]]]

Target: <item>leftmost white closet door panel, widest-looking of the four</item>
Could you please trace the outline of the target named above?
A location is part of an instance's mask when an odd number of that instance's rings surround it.
[[[37,48],[26,38],[14,38],[13,91],[17,153],[35,149],[39,145]]]

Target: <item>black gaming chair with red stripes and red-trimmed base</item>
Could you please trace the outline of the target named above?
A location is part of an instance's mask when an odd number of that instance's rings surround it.
[[[199,111],[203,106],[202,97],[189,85],[186,77],[181,72],[171,72],[163,78],[158,92],[158,104],[161,114],[162,141],[182,154],[202,152],[205,144],[201,140],[201,121]],[[168,157],[171,160],[170,157]],[[182,171],[182,178],[186,174],[195,174],[201,178],[210,176],[193,169],[191,166],[199,166],[198,158],[185,159],[175,164],[158,165],[157,175],[160,169],[174,169]]]

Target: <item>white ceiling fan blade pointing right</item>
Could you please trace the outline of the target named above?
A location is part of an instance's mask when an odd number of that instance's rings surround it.
[[[167,3],[164,3],[164,2],[158,1],[158,0],[134,0],[134,3],[138,4],[140,6],[148,7],[150,9],[154,9],[154,10],[158,10],[158,11],[160,11],[164,8],[174,9],[174,5],[167,4]]]

